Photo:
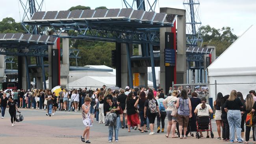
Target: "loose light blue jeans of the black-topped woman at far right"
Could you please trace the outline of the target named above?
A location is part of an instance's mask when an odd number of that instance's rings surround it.
[[[228,110],[228,124],[229,124],[229,133],[230,140],[235,140],[235,131],[236,137],[241,138],[241,112],[239,110]],[[235,130],[236,129],[236,130]]]

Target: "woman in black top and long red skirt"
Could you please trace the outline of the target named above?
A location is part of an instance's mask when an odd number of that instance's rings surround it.
[[[139,131],[141,131],[141,125],[139,122],[139,114],[137,108],[134,107],[136,100],[134,100],[134,94],[130,92],[126,99],[126,110],[127,110],[127,125],[128,132],[130,131],[131,126],[137,126]]]

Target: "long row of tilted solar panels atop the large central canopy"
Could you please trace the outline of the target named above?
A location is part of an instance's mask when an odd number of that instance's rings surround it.
[[[73,10],[73,11],[41,11],[35,12],[31,20],[24,21],[27,24],[38,24],[43,23],[49,25],[50,22],[54,23],[65,23],[66,22],[81,22],[93,21],[98,22],[100,20],[124,20],[125,22],[138,22],[150,23],[150,24],[171,24],[173,16],[166,13],[155,13],[134,10],[132,8],[124,9],[85,9],[85,10]],[[40,25],[40,24],[38,24]]]

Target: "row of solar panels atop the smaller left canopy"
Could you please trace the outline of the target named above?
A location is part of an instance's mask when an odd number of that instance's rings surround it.
[[[26,43],[41,43],[54,44],[56,37],[49,35],[32,35],[23,33],[0,33],[1,42],[26,42]]]

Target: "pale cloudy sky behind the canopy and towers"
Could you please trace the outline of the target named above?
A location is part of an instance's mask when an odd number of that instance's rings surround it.
[[[3,0],[1,0],[3,1]],[[13,17],[20,22],[23,15],[20,0],[8,0],[0,5],[0,20]],[[26,3],[27,0],[21,0]],[[40,2],[41,0],[37,0]],[[132,2],[132,0],[126,0]],[[149,0],[150,2],[154,0]],[[159,7],[171,7],[184,9],[184,0],[158,0],[156,12]],[[43,11],[67,10],[72,6],[95,7],[106,6],[107,8],[122,8],[122,0],[45,0]],[[146,8],[147,10],[147,8]],[[230,27],[233,33],[241,35],[252,24],[256,24],[256,0],[200,0],[199,16],[202,26],[210,25],[214,28]]]

